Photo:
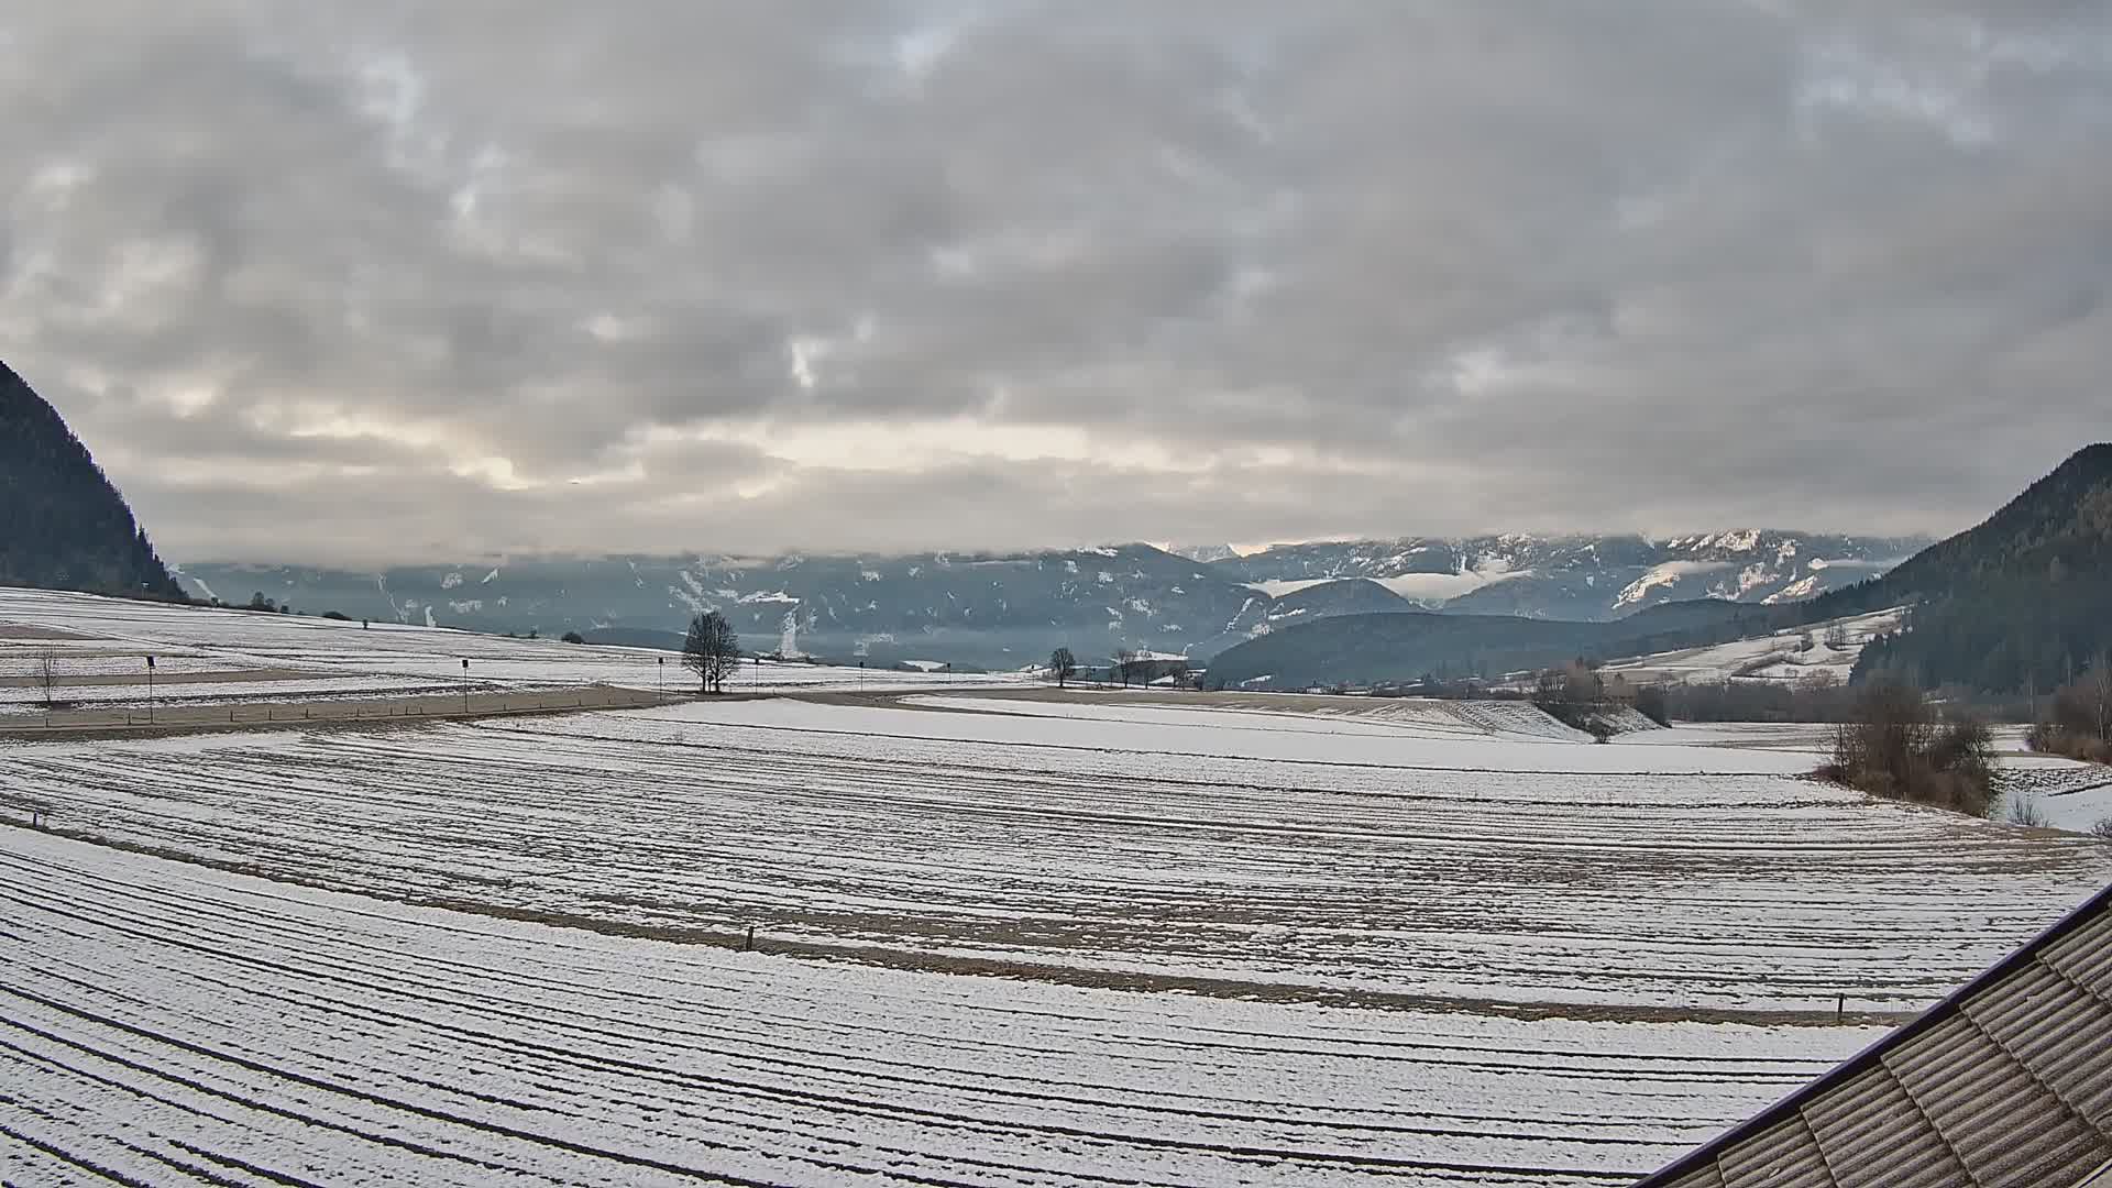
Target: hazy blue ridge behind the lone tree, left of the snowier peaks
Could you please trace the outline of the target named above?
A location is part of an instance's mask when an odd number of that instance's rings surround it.
[[[615,556],[498,564],[186,564],[201,596],[262,592],[304,611],[490,632],[680,643],[693,613],[733,619],[743,647],[879,664],[1041,664],[1056,647],[1208,655],[1263,626],[1271,598],[1151,545],[1022,554]]]

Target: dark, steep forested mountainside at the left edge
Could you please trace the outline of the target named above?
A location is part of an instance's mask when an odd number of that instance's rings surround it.
[[[182,598],[125,497],[30,383],[0,364],[0,586]]]

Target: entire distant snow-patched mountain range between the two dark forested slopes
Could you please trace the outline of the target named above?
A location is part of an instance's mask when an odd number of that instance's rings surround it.
[[[184,564],[194,596],[308,613],[674,643],[722,611],[758,651],[1020,668],[1071,647],[1208,660],[1297,621],[1375,611],[1611,619],[1685,598],[1778,602],[1882,573],[1924,541],[1808,533],[1324,541],[1195,560],[1151,545],[1020,554],[615,556],[395,567]],[[1183,550],[1187,552],[1187,550]]]

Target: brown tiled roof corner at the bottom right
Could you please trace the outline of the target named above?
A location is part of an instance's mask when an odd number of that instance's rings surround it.
[[[2112,1188],[2112,888],[1637,1188]]]

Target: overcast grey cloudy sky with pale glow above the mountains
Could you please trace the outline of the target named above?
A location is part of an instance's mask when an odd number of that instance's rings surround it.
[[[2101,0],[0,6],[175,560],[1947,533],[2108,279]]]

